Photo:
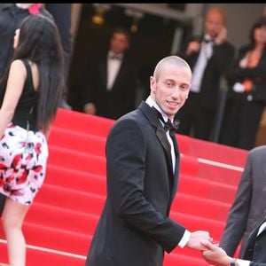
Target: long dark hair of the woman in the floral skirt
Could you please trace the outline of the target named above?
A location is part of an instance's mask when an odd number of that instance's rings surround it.
[[[29,59],[38,67],[37,127],[47,132],[65,89],[63,48],[56,24],[41,14],[24,19],[15,59]]]

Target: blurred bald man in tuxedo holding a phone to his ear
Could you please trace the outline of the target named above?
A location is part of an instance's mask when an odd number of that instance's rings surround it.
[[[182,52],[193,76],[190,98],[176,114],[180,134],[204,140],[212,136],[220,80],[234,56],[234,47],[226,40],[225,22],[223,10],[210,9],[205,19],[205,35],[192,37]]]

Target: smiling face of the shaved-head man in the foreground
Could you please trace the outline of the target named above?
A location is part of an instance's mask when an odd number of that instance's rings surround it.
[[[169,118],[184,106],[191,87],[192,74],[184,67],[168,64],[160,70],[158,80],[151,77],[151,96]]]

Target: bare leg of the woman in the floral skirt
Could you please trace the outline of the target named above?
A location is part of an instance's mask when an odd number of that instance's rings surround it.
[[[21,230],[28,206],[7,198],[2,215],[10,266],[26,265],[26,242]]]

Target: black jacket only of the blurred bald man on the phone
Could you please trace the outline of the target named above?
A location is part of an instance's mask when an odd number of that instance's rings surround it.
[[[201,41],[201,39],[198,41]],[[231,63],[234,51],[234,47],[228,42],[224,42],[221,45],[214,45],[213,47],[213,55],[207,61],[200,85],[200,105],[207,110],[215,111],[216,109],[221,76]],[[192,72],[199,55],[200,51],[192,53],[190,56],[185,56],[184,53],[182,54],[182,57],[191,66]]]

